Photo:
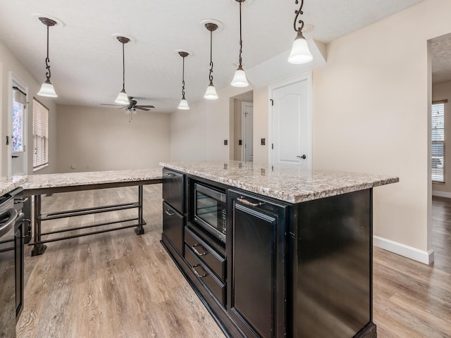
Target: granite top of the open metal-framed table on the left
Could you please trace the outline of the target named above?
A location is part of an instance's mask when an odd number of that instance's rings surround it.
[[[161,180],[161,168],[30,175],[23,189],[75,187],[89,184]]]

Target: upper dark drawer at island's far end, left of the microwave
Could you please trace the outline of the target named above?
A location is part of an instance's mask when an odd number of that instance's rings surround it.
[[[179,213],[185,213],[185,175],[163,168],[163,199]]]

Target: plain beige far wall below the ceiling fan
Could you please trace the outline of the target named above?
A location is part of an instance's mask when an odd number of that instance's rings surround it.
[[[58,105],[58,173],[156,168],[170,159],[171,116]],[[75,165],[75,169],[71,168]]]

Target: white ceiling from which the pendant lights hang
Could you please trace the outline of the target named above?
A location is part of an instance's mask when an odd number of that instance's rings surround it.
[[[423,0],[305,0],[304,19],[314,26],[307,39],[328,43]],[[185,59],[186,98],[202,99],[209,84],[209,32],[199,23],[223,24],[213,35],[214,84],[227,87],[239,51],[239,5],[235,0],[0,0],[0,39],[37,82],[45,80],[46,27],[36,16],[61,20],[50,27],[51,82],[58,104],[112,104],[125,89],[153,111],[175,111],[181,96]],[[247,0],[242,5],[243,67],[252,68],[284,51],[295,38],[294,0]]]

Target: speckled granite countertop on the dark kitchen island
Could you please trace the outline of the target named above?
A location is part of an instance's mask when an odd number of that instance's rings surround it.
[[[240,161],[173,162],[160,165],[292,204],[399,182],[395,176],[305,170]]]

